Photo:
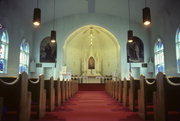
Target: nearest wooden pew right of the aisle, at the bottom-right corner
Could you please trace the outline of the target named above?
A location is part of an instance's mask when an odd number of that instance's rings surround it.
[[[157,90],[153,94],[154,119],[155,121],[170,121],[170,112],[177,112],[180,109],[180,77],[168,79],[166,75],[159,72],[156,79]]]

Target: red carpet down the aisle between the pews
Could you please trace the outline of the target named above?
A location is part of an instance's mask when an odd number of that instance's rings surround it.
[[[40,121],[143,121],[104,91],[80,91]]]

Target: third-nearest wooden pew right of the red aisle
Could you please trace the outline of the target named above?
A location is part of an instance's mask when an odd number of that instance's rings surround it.
[[[137,111],[135,108],[138,105],[138,89],[139,89],[139,80],[134,79],[130,76],[130,88],[129,88],[129,109],[131,111]]]

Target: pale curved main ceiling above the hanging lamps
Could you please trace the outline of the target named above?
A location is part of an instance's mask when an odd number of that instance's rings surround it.
[[[33,9],[36,0],[1,0],[6,1],[9,8],[19,11],[27,20],[32,21]],[[151,8],[152,16],[160,13],[162,8],[172,2],[180,0],[147,0],[147,6]],[[131,19],[142,22],[142,8],[145,0],[130,0]],[[42,10],[42,22],[53,19],[53,0],[39,0]],[[56,0],[56,18],[73,14],[88,13],[87,0]],[[128,0],[95,0],[95,13],[109,14],[128,18]]]

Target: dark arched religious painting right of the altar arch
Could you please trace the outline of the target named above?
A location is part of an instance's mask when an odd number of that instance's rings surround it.
[[[144,62],[144,44],[142,40],[136,36],[133,37],[132,43],[127,43],[127,62]]]

